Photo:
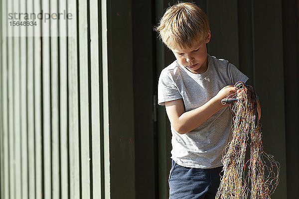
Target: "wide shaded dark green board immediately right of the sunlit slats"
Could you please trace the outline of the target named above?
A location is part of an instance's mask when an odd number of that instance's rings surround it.
[[[107,1],[107,16],[111,198],[135,199],[132,1]]]

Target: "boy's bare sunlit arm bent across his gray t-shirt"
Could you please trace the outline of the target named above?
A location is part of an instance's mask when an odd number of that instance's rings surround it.
[[[235,92],[236,89],[233,86],[226,86],[211,100],[187,112],[184,110],[182,99],[165,101],[166,113],[174,130],[184,134],[201,125],[215,112],[224,107],[221,100]]]

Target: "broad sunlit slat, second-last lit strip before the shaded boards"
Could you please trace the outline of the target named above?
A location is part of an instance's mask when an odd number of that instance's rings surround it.
[[[91,67],[91,132],[92,132],[92,188],[94,199],[102,198],[102,152],[101,149],[101,112],[100,112],[100,88],[102,84],[100,82],[99,76],[102,75],[101,69],[99,66],[99,5],[97,0],[89,1],[90,9],[90,67]]]

